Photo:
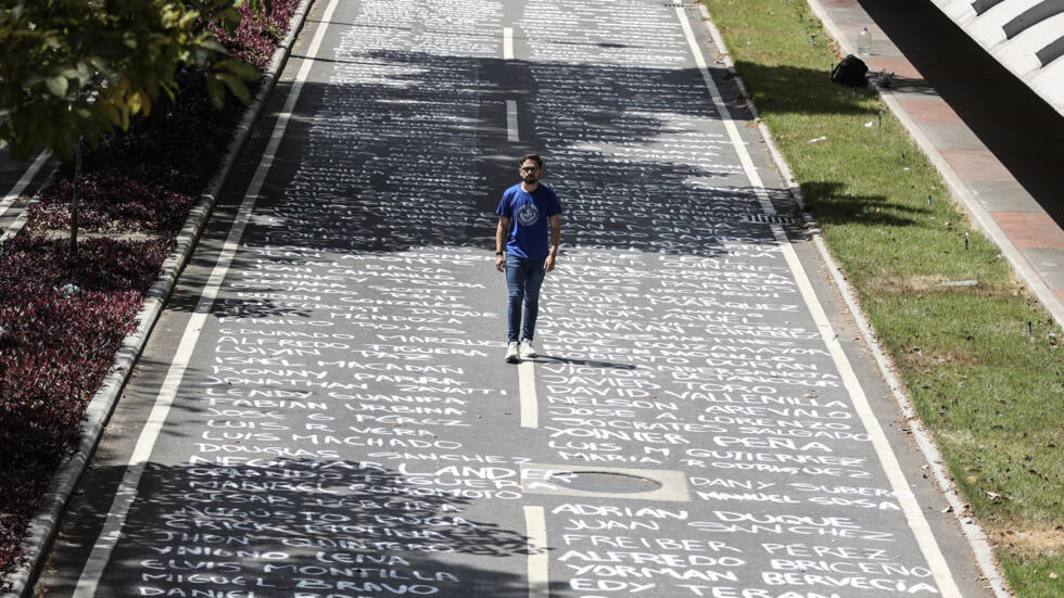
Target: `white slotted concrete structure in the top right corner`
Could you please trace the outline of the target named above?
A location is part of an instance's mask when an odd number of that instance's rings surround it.
[[[1064,0],[932,0],[1064,115]]]

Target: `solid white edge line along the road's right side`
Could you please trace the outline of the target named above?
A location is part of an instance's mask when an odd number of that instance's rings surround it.
[[[706,82],[706,88],[709,90],[710,96],[713,98],[713,102],[717,104],[717,110],[720,112],[721,119],[727,129],[729,138],[732,140],[732,144],[735,147],[735,150],[738,153],[739,161],[743,163],[743,169],[746,171],[747,178],[750,180],[750,185],[755,188],[758,200],[761,202],[765,213],[775,214],[775,207],[772,205],[772,202],[769,201],[769,195],[764,189],[764,183],[762,182],[761,177],[757,174],[757,169],[753,166],[752,160],[750,160],[750,154],[746,149],[746,144],[743,142],[743,138],[739,136],[734,120],[732,120],[731,116],[729,116],[730,113],[727,106],[724,104],[720,90],[717,88],[717,84],[713,81],[713,77],[709,73],[706,59],[702,55],[701,49],[698,47],[698,41],[695,39],[694,31],[691,29],[691,24],[687,22],[687,15],[682,8],[676,8],[676,16],[679,17],[680,24],[683,27],[684,35],[687,37],[687,44],[691,47],[691,51],[695,56],[695,63],[702,75],[702,80]],[[963,598],[961,596],[961,590],[957,587],[953,575],[949,570],[949,564],[946,562],[946,557],[942,555],[942,550],[939,548],[938,542],[935,539],[935,536],[930,531],[930,526],[927,524],[927,520],[924,518],[924,513],[920,509],[920,505],[916,504],[916,497],[913,495],[908,482],[905,481],[904,473],[901,471],[901,466],[898,463],[898,458],[890,448],[890,443],[887,441],[886,434],[883,432],[883,428],[879,425],[878,420],[875,418],[875,413],[872,411],[867,396],[865,396],[864,390],[861,387],[861,383],[858,380],[857,374],[853,372],[853,367],[850,365],[849,359],[846,357],[846,353],[844,353],[841,345],[838,343],[838,338],[827,320],[827,315],[824,313],[824,308],[821,306],[820,300],[816,298],[816,294],[813,292],[812,284],[809,281],[809,276],[806,273],[805,268],[798,260],[798,254],[790,245],[790,240],[787,239],[787,236],[784,233],[783,227],[780,225],[772,225],[772,233],[775,236],[777,242],[783,249],[783,254],[787,259],[787,265],[790,266],[790,269],[795,275],[795,280],[798,283],[802,300],[805,301],[807,307],[809,307],[813,321],[816,323],[816,328],[820,330],[821,338],[824,340],[824,344],[827,346],[828,353],[831,353],[836,368],[838,368],[839,376],[843,378],[843,383],[850,395],[850,399],[853,402],[853,407],[861,418],[861,423],[864,424],[865,430],[869,432],[869,436],[872,440],[872,445],[875,448],[876,455],[879,457],[879,462],[883,465],[883,469],[887,474],[890,486],[895,491],[898,501],[901,504],[902,511],[905,513],[905,520],[909,523],[909,527],[912,530],[913,535],[916,538],[916,544],[920,546],[921,552],[924,555],[928,567],[930,567],[930,570],[934,573],[935,582],[938,584],[939,591],[941,591],[942,596],[947,598]]]

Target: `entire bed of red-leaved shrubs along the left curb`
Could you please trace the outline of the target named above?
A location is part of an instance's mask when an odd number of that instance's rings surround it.
[[[223,36],[230,54],[262,69],[284,35],[297,0],[274,0],[268,17]],[[262,5],[262,4],[259,4]],[[72,168],[41,192],[23,231],[0,254],[0,589],[21,558],[18,543],[49,480],[78,437],[87,402],[134,327],[206,182],[221,162],[244,106],[211,106],[202,78],[179,76],[176,100],[109,136],[84,157],[79,220],[94,231],[151,231],[152,241],[67,241],[41,232],[69,228]]]

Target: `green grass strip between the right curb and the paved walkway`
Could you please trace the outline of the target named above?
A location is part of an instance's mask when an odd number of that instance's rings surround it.
[[[876,94],[831,84],[805,0],[704,1],[1011,589],[1064,596],[1060,328]]]

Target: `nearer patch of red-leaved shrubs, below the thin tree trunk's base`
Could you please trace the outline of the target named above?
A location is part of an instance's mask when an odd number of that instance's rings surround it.
[[[0,570],[15,562],[48,479],[132,330],[173,240],[18,236],[0,257]]]

